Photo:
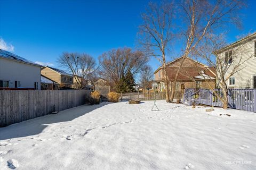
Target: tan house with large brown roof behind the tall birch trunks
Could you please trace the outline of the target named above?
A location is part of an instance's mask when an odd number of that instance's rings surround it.
[[[178,67],[180,66],[181,57],[166,64],[167,77],[170,80],[170,87],[173,83]],[[164,70],[163,67],[159,67],[155,72],[155,86],[158,91],[164,91]],[[185,88],[209,88],[209,84],[212,88],[215,87],[215,69],[208,67],[205,64],[199,63],[189,57],[186,57],[182,64],[178,79],[175,84],[176,90]],[[207,82],[206,80],[207,79]]]

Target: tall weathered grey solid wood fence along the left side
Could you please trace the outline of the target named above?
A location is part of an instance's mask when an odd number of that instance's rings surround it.
[[[83,105],[91,90],[0,90],[0,127]]]

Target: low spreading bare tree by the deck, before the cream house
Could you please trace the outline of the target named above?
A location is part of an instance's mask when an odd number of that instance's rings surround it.
[[[221,89],[218,93],[210,86],[210,77],[202,74],[202,78],[207,82],[214,95],[223,103],[223,108],[228,108],[228,85],[229,78],[237,72],[243,70],[245,62],[253,57],[253,52],[250,52],[242,41],[227,46],[226,40],[222,35],[207,35],[206,41],[195,49],[195,56],[199,60],[204,60],[210,63],[216,69],[217,87]],[[252,55],[247,55],[252,54]],[[231,80],[232,81],[232,80]]]

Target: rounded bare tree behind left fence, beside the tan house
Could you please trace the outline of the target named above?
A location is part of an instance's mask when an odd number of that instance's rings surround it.
[[[79,89],[85,88],[88,84],[96,66],[94,58],[84,53],[62,53],[58,58],[58,63],[74,75],[74,80]]]

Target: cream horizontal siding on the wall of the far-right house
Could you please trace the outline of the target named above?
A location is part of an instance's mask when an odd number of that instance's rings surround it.
[[[232,77],[235,77],[235,85],[229,85],[227,81],[228,88],[253,88],[253,76],[256,76],[256,57],[254,56],[254,41],[253,39],[245,41],[242,45],[235,47],[237,54],[233,54],[233,63],[231,63],[225,78],[229,75],[232,68],[239,62],[242,57],[241,62],[244,62],[240,68],[243,68],[241,71],[235,73]],[[228,52],[226,50],[225,52]],[[221,57],[225,56],[225,52],[222,52]],[[246,61],[247,60],[247,61]]]

